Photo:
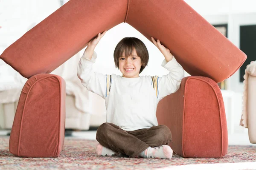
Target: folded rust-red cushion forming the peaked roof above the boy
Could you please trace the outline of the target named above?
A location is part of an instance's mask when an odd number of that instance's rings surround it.
[[[99,32],[123,22],[150,41],[150,37],[159,39],[190,75],[221,82],[246,59],[183,0],[70,0],[10,45],[0,58],[26,78],[50,73]]]

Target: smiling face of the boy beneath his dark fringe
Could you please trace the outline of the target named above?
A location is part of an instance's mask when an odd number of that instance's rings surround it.
[[[122,72],[122,77],[136,78],[139,77],[141,68],[140,57],[137,56],[137,52],[134,49],[133,55],[125,57],[125,52],[119,57],[119,70]]]

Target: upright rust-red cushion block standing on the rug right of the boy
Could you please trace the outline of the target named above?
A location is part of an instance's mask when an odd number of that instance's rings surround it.
[[[227,120],[221,90],[207,77],[185,77],[180,88],[157,105],[159,125],[172,132],[170,146],[188,158],[221,158],[227,153]]]

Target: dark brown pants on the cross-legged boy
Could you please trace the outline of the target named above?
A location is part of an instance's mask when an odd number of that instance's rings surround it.
[[[148,147],[168,145],[172,133],[166,125],[127,131],[113,123],[103,123],[97,129],[96,140],[116,153],[135,158]]]

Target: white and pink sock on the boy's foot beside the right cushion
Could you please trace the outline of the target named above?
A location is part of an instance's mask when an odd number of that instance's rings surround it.
[[[143,158],[158,158],[158,159],[171,159],[172,148],[169,145],[162,145],[160,147],[148,147],[139,156]]]

